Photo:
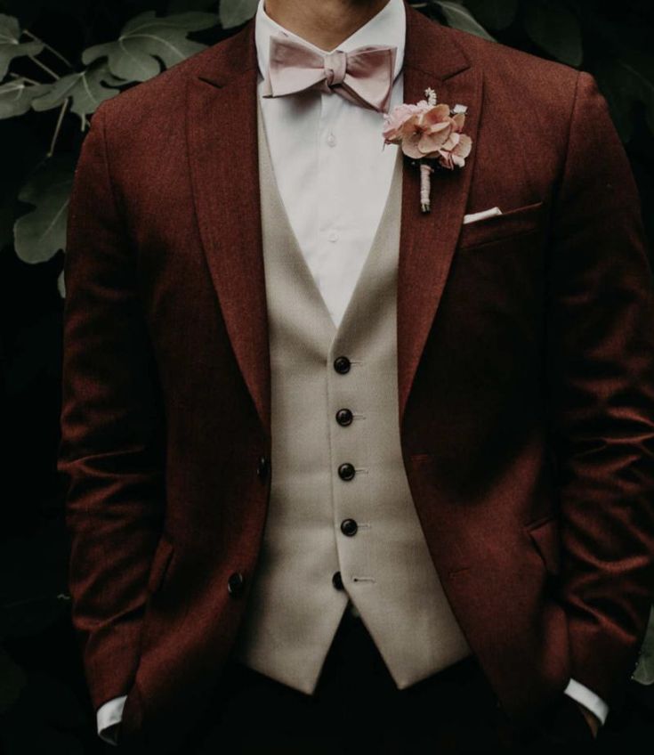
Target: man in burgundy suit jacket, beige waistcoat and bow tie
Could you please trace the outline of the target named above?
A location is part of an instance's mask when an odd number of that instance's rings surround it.
[[[381,134],[429,89],[472,150],[422,213]],[[593,77],[401,0],[266,0],[96,112],[66,281],[103,738],[592,743],[654,572],[650,267]]]

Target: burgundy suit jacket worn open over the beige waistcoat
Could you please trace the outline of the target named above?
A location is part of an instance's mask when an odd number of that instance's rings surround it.
[[[407,14],[405,101],[432,86],[467,105],[473,141],[463,169],[432,176],[429,215],[417,167],[403,175],[398,419],[416,511],[509,715],[570,677],[615,705],[654,591],[634,179],[589,74]],[[275,474],[256,82],[252,21],[104,102],[75,176],[69,586],[94,707],[129,693],[125,741],[173,742],[219,681]]]

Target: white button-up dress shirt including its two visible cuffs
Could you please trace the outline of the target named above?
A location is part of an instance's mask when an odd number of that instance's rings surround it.
[[[403,0],[384,8],[336,49],[350,52],[362,45],[395,45],[395,80],[391,109],[403,97],[406,19]],[[335,326],[343,313],[372,246],[391,188],[397,147],[384,149],[384,116],[317,90],[263,98],[270,35],[282,34],[321,50],[279,26],[259,0],[254,36],[259,64],[259,99],[279,194],[304,259]],[[569,680],[565,693],[591,710],[602,723],[607,704],[587,687]],[[126,695],[105,702],[97,713],[98,733],[115,743]]]

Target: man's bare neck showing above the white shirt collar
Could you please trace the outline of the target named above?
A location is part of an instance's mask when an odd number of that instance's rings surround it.
[[[334,50],[389,0],[265,0],[270,18],[321,50]]]

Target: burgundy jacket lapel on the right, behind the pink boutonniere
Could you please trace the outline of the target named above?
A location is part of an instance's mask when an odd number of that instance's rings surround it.
[[[408,394],[438,310],[470,191],[481,115],[481,71],[471,66],[452,33],[405,2],[407,40],[404,101],[424,99],[431,86],[439,102],[467,105],[464,133],[472,151],[463,168],[432,174],[432,211],[420,211],[417,165],[405,158],[398,270],[398,392],[400,426]]]

